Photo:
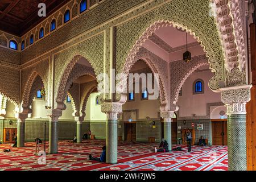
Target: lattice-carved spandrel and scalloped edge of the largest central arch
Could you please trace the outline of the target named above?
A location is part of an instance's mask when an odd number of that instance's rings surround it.
[[[218,82],[224,80],[224,56],[214,18],[209,16],[209,1],[204,0],[191,0],[189,3],[171,1],[117,26],[117,72],[126,73],[130,69],[144,41],[162,26],[181,27],[197,39],[207,53],[210,69],[215,73],[209,86],[212,90],[218,89]]]

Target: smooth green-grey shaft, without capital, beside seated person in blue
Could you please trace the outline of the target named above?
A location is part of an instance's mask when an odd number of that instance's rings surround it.
[[[106,122],[106,163],[117,163],[117,119]]]

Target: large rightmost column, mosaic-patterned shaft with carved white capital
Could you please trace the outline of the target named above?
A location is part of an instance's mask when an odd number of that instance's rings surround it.
[[[220,90],[228,115],[228,169],[246,171],[246,102],[250,101],[250,85]]]

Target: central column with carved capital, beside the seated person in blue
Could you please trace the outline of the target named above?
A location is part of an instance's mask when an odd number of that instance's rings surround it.
[[[106,102],[101,104],[102,113],[106,113],[106,163],[117,163],[117,113],[122,112],[122,104],[115,102]]]

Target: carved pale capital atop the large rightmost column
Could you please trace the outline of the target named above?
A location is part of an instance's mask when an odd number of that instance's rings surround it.
[[[251,100],[251,85],[221,88],[221,101],[227,108],[227,114],[246,114],[246,102]]]

